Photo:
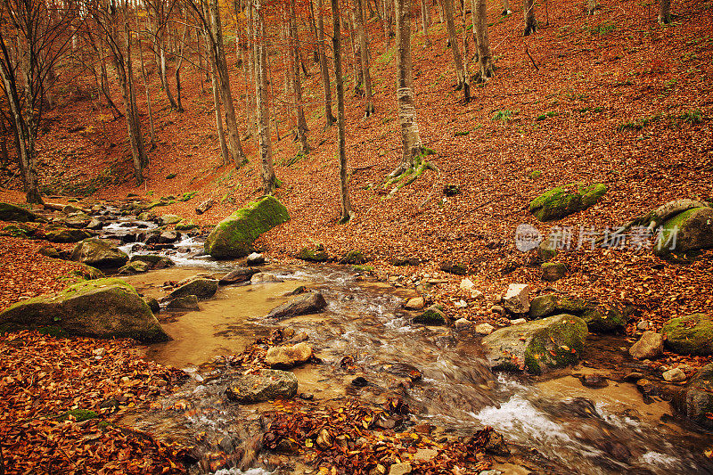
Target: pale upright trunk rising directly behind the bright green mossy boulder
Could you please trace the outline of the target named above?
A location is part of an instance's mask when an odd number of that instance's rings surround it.
[[[267,113],[267,71],[265,52],[265,24],[260,12],[260,0],[253,0],[252,45],[256,68],[255,98],[258,108],[258,146],[262,160],[262,187],[265,194],[275,189],[275,168],[273,168],[273,143],[270,135],[270,117]]]

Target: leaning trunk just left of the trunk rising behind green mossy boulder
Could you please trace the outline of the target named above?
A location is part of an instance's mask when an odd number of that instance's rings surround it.
[[[228,75],[228,66],[225,61],[225,47],[223,45],[223,27],[220,21],[218,12],[217,0],[210,1],[210,17],[213,30],[213,41],[215,42],[212,53],[215,56],[215,68],[220,85],[220,97],[223,100],[223,108],[225,109],[225,126],[228,135],[228,147],[230,156],[236,168],[241,168],[248,160],[245,158],[245,153],[242,152],[242,144],[238,135],[238,121],[235,117],[235,109],[233,105],[233,95],[230,91],[230,76]]]

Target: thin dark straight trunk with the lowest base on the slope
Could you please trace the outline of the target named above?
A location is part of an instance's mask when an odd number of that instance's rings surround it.
[[[346,223],[352,217],[351,201],[347,182],[347,146],[344,124],[344,80],[341,75],[341,31],[339,0],[332,0],[332,49],[334,55],[334,77],[337,83],[337,151],[340,155],[340,223]]]

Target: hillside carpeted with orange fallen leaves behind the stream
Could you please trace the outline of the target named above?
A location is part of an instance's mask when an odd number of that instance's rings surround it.
[[[447,283],[433,291],[432,299],[455,318],[478,322],[500,321],[489,307],[509,283],[529,283],[535,295],[554,288],[633,305],[657,330],[671,317],[713,312],[713,250],[682,265],[629,245],[573,249],[558,256],[568,267],[566,276],[545,283],[539,266],[529,266],[529,255],[515,248],[515,228],[522,223],[535,225],[543,234],[553,226],[572,226],[577,242],[580,229],[594,227],[603,233],[668,201],[713,200],[713,1],[674,3],[670,26],[656,22],[657,5],[651,1],[601,4],[594,16],[586,16],[582,2],[553,1],[548,5],[549,24],[538,11],[540,29],[531,37],[521,36],[520,10],[501,17],[491,8],[495,76],[472,87],[470,103],[453,88],[445,25],[435,21],[430,27],[430,46],[424,47],[422,34],[415,33],[419,128],[423,143],[436,152],[430,160],[438,170],[393,195],[381,184],[401,153],[395,50],[393,41],[385,50],[380,25],[373,21],[376,114],[364,118],[365,99],[347,98],[349,192],[356,212],[347,225],[337,223],[336,127],[324,130],[318,68],[306,50],[306,117],[313,151],[297,156],[286,98],[279,94],[273,125],[282,137],[275,142],[275,173],[282,186],[275,194],[290,210],[291,220],[261,236],[259,243],[274,261],[286,263],[304,246],[317,243],[334,257],[364,250],[373,272],[397,283],[438,274]],[[271,56],[270,61],[273,70],[282,68],[282,56]],[[155,66],[149,72],[155,72]],[[242,74],[235,71],[232,78],[234,95],[241,97],[246,87]],[[282,76],[273,80],[274,89],[281,89]],[[152,201],[197,192],[191,201],[155,210],[201,225],[215,225],[257,198],[256,147],[251,139],[243,140],[250,162],[237,170],[220,166],[212,101],[208,89],[203,90],[208,85],[200,81],[193,71],[184,74],[183,113],[170,111],[156,84],[151,85],[159,143],[149,152],[146,183],[140,187],[131,179],[122,119],[112,119],[95,100],[61,97],[60,106],[48,112],[39,143],[45,191],[66,196],[92,192],[84,202],[126,198],[129,193]],[[118,91],[114,93],[119,98]],[[143,86],[138,96],[139,109],[145,111]],[[145,115],[143,123],[145,132]],[[273,135],[276,138],[275,130]],[[533,178],[533,171],[542,174]],[[169,174],[175,177],[168,179]],[[529,214],[529,201],[574,182],[606,184],[607,192],[593,207],[554,223],[539,223]],[[461,193],[444,196],[446,184],[458,185]],[[16,191],[19,179],[10,186],[0,190],[0,201],[22,201]],[[217,205],[196,216],[195,206],[211,197]],[[57,266],[55,259],[37,255],[40,243],[0,240],[0,306],[64,284],[63,276],[73,265]],[[395,267],[389,264],[392,258],[419,258],[422,264]],[[445,261],[466,264],[468,277],[487,300],[456,307],[467,296],[459,288],[462,277],[439,270]],[[629,334],[634,330],[630,327]],[[691,360],[694,365],[706,361]]]

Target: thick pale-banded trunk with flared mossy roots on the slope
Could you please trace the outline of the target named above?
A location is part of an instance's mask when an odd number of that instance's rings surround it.
[[[414,102],[414,70],[411,59],[411,0],[395,0],[397,37],[397,103],[398,119],[401,123],[401,143],[403,154],[401,164],[389,176],[401,175],[412,168],[422,155],[423,145],[416,121]]]

